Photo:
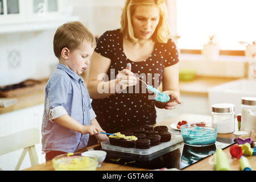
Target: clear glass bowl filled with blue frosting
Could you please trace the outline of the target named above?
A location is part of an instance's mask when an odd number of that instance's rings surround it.
[[[205,126],[196,126],[191,124],[180,127],[183,141],[189,146],[210,146],[216,142],[218,127],[206,123]]]

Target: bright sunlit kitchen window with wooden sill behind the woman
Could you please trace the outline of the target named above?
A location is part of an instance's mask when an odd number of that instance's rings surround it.
[[[254,0],[176,0],[175,5],[181,53],[200,54],[209,36],[215,35],[220,55],[243,56],[245,46],[239,41],[256,40]]]

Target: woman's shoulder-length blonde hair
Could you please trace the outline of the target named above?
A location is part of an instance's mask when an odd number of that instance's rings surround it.
[[[126,0],[121,15],[121,32],[126,39],[137,42],[131,24],[131,14],[138,5],[156,5],[160,11],[159,23],[152,35],[153,40],[160,43],[167,43],[170,36],[170,29],[167,22],[167,8],[164,0]]]

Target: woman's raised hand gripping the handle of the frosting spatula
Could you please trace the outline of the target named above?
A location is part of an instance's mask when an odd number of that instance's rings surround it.
[[[134,86],[138,84],[138,79],[136,75],[131,72],[131,67],[127,65],[126,69],[123,69],[117,75],[117,86],[116,90],[119,92],[120,90],[124,90],[129,86]]]

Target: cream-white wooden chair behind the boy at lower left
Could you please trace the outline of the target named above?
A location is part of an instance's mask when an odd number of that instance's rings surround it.
[[[14,170],[19,170],[27,151],[30,156],[31,166],[35,166],[38,164],[38,155],[36,154],[35,144],[38,143],[40,143],[40,131],[38,128],[2,135],[0,136],[0,155],[5,155],[23,148],[22,155]]]

